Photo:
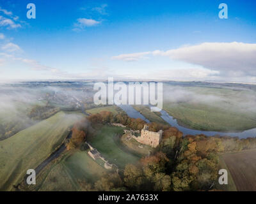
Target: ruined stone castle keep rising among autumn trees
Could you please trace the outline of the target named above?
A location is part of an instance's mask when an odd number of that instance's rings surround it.
[[[157,147],[162,140],[163,130],[159,130],[157,133],[148,130],[147,124],[141,129],[141,136],[137,138],[137,141],[151,147]]]

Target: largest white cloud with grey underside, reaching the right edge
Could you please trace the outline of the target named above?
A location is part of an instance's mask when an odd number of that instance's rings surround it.
[[[202,43],[166,52],[156,50],[152,53],[198,64],[232,77],[256,76],[256,44],[253,43]]]

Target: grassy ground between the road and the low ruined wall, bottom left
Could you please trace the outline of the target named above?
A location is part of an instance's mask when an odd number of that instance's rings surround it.
[[[82,182],[93,184],[107,172],[87,151],[66,152],[36,177],[33,191],[81,191]]]

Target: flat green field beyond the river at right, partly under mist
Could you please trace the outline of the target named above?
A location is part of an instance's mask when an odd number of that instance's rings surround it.
[[[253,91],[206,87],[181,90],[179,97],[165,95],[163,108],[182,126],[206,131],[244,131],[256,127],[255,101],[250,98],[255,94]]]

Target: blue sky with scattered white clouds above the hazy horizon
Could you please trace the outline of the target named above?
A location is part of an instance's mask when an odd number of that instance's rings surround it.
[[[28,3],[36,18],[28,19]],[[228,19],[218,17],[220,3]],[[256,82],[256,1],[0,1],[0,80]]]

